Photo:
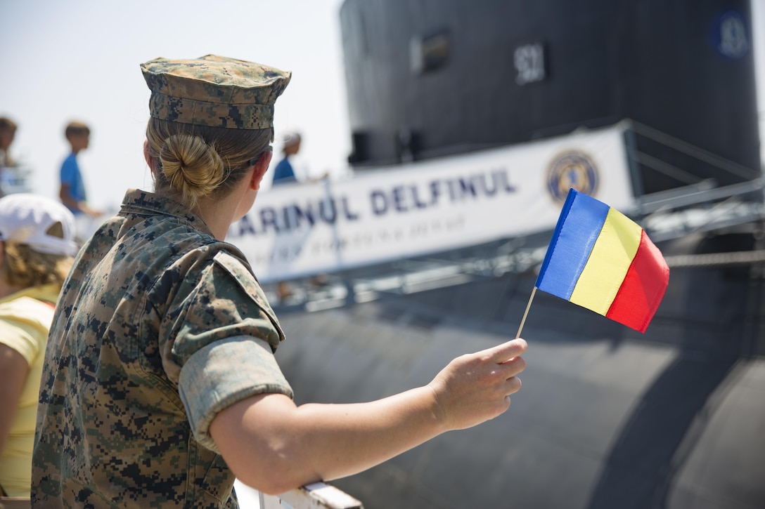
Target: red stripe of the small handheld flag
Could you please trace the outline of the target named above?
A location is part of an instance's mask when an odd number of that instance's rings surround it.
[[[640,247],[630,264],[627,276],[606,313],[607,318],[646,332],[659,308],[669,284],[669,267],[646,232],[640,235]]]

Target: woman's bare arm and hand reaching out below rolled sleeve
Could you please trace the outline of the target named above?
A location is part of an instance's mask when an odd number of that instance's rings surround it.
[[[361,472],[448,430],[509,407],[525,361],[516,339],[451,361],[430,384],[359,404],[304,404],[259,394],[218,413],[210,434],[240,481],[278,494]]]

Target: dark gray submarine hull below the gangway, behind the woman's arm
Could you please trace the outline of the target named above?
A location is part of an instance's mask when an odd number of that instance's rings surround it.
[[[751,248],[688,237],[665,254]],[[301,402],[371,400],[513,337],[534,283],[509,274],[282,313]],[[509,411],[334,481],[365,507],[765,507],[765,284],[754,265],[675,268],[645,335],[537,293]]]

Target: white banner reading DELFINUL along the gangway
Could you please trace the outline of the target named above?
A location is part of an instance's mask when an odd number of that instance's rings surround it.
[[[288,279],[552,229],[569,187],[633,207],[620,125],[276,186],[227,240],[260,280]]]

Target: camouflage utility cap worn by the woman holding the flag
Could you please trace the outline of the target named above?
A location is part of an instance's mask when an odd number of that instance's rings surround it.
[[[151,116],[231,129],[272,127],[274,102],[292,73],[259,63],[207,55],[155,58],[141,64],[151,89]]]

